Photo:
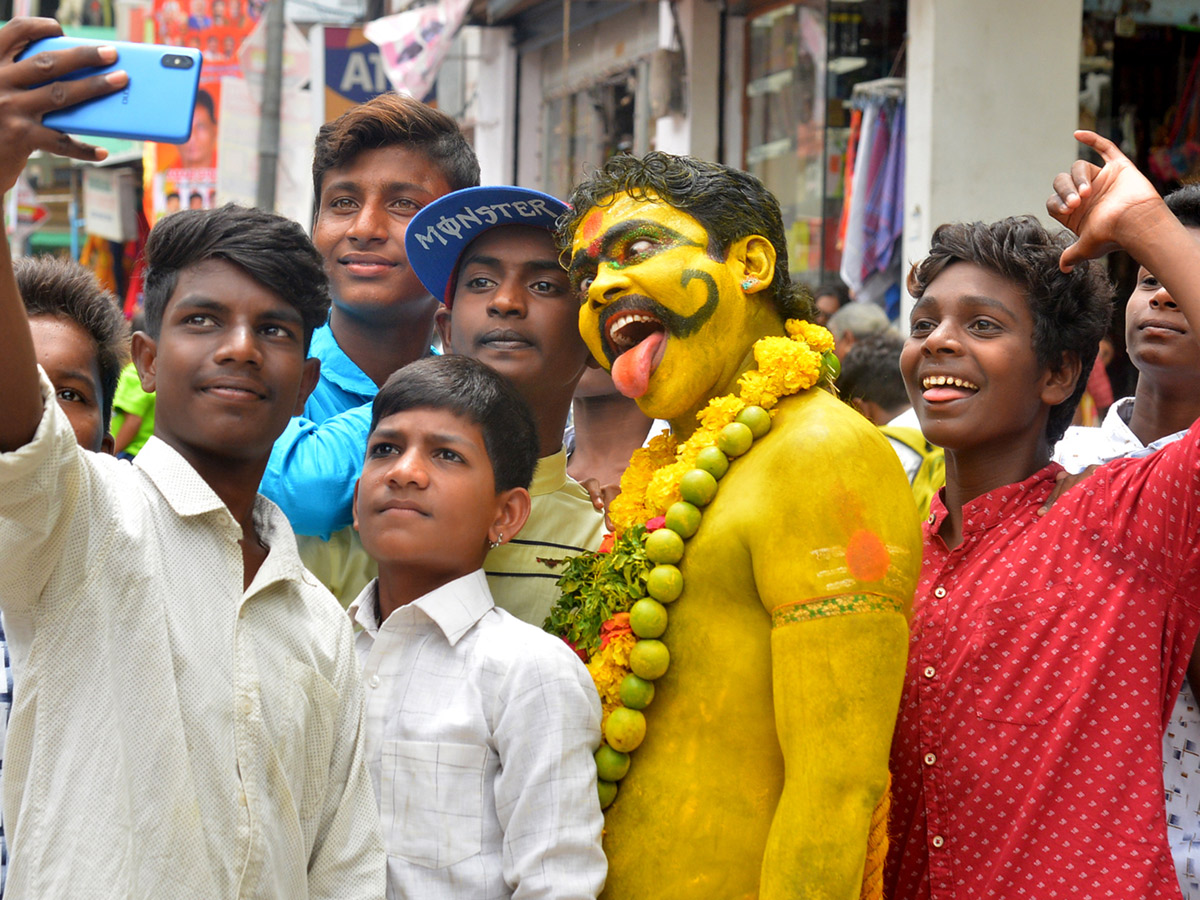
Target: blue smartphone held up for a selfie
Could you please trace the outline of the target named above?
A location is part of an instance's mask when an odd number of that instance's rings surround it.
[[[43,50],[65,50],[79,46],[115,47],[116,61],[103,68],[80,68],[64,80],[118,70],[128,72],[130,80],[125,90],[43,115],[44,125],[71,134],[157,140],[166,144],[182,144],[187,140],[192,133],[196,91],[200,86],[199,50],[156,43],[43,37],[26,47],[17,59]]]

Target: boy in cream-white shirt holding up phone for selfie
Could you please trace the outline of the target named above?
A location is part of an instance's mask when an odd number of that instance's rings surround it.
[[[0,30],[0,58],[60,34]],[[0,185],[35,149],[97,151],[40,116],[115,58],[0,66]],[[40,65],[44,64],[44,65]],[[320,259],[295,223],[181,211],[146,244],[158,395],[130,466],[80,450],[38,371],[0,247],[0,606],[20,688],[5,758],[14,896],[378,898],[384,887],[350,629],[257,487],[316,378]]]

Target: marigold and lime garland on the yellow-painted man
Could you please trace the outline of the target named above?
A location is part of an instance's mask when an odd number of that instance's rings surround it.
[[[770,431],[781,397],[838,374],[833,336],[820,325],[786,323],[787,336],[754,346],[756,368],[738,378],[738,394],[714,397],[696,430],[679,444],[664,432],[636,451],[620,479],[608,517],[613,534],[595,553],[568,560],[558,586],[563,599],[546,619],[587,664],[604,707],[604,743],[596,751],[600,805],[617,797],[630,752],[646,737],[642,712],[654,700],[671,654],[659,638],[666,605],[684,589],[678,565],[685,541],[700,528],[731,460]]]

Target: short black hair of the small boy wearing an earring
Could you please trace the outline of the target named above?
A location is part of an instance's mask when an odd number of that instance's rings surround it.
[[[496,492],[529,487],[538,430],[529,404],[504,376],[467,356],[426,356],[392,372],[371,404],[371,432],[389,415],[444,409],[478,425]]]

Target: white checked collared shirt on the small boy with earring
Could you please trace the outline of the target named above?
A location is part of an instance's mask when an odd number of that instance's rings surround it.
[[[388,896],[590,900],[604,887],[600,698],[556,637],[494,607],[481,570],[377,624],[350,606]]]

